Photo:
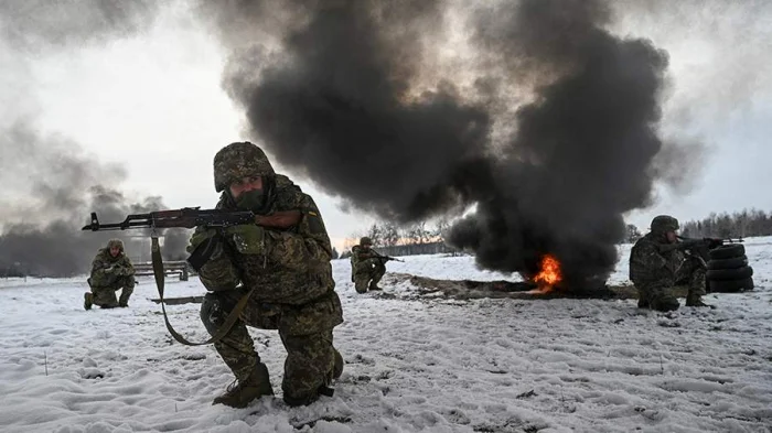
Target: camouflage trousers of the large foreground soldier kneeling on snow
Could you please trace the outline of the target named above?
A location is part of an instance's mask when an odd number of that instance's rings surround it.
[[[243,290],[210,292],[201,305],[201,320],[214,335],[245,294]],[[337,293],[305,305],[267,304],[250,299],[225,337],[215,349],[239,381],[245,381],[260,362],[247,326],[278,329],[287,350],[281,389],[285,400],[311,402],[332,381],[334,346],[332,329],[343,323],[343,310]]]

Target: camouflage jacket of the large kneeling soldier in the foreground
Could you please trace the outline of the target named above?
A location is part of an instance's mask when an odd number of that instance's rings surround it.
[[[334,290],[332,246],[315,203],[287,176],[276,175],[267,190],[266,215],[281,210],[300,210],[300,223],[289,229],[271,229],[255,224],[226,229],[197,228],[191,237],[189,252],[214,238],[217,246],[199,270],[211,291],[233,290],[243,285],[255,289],[258,302],[302,305]],[[217,208],[232,208],[226,195]]]

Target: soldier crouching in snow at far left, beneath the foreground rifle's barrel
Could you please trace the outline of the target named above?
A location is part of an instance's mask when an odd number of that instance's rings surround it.
[[[107,247],[97,252],[87,281],[92,291],[84,293],[84,308],[92,310],[92,305],[103,308],[129,306],[129,297],[136,284],[135,267],[124,251],[124,241],[110,239]],[[120,299],[116,299],[119,290]]]

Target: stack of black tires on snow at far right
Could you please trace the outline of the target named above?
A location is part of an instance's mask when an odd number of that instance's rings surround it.
[[[748,266],[746,247],[722,245],[710,250],[708,288],[714,293],[744,292],[753,289],[753,268]]]

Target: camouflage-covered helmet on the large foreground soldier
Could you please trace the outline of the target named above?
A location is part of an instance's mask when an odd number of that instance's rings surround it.
[[[214,188],[218,193],[244,177],[274,174],[262,149],[248,141],[230,143],[214,155]]]

